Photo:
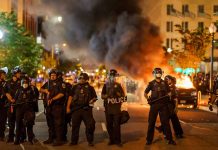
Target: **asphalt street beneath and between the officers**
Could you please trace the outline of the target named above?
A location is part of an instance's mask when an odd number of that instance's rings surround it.
[[[1,142],[1,150],[83,150],[83,149],[218,149],[218,116],[211,112],[195,109],[179,109],[178,115],[182,123],[184,130],[183,139],[175,139],[177,145],[167,145],[162,134],[155,131],[155,137],[153,144],[145,146],[145,138],[148,126],[148,105],[141,105],[135,103],[128,104],[128,110],[131,115],[131,119],[125,125],[122,125],[122,142],[123,147],[108,146],[108,136],[105,127],[104,110],[102,107],[101,100],[99,100],[94,108],[94,117],[96,120],[96,131],[95,131],[95,146],[93,148],[88,147],[86,142],[84,125],[81,126],[80,140],[77,146],[69,146],[69,143],[53,147],[51,145],[44,145],[42,142],[47,139],[47,125],[45,121],[45,115],[43,113],[43,106],[40,101],[40,111],[37,113],[36,125],[34,126],[34,132],[38,141],[34,145],[25,142],[20,146],[13,144],[6,144]],[[157,125],[159,125],[159,119]],[[71,131],[69,127],[68,141],[70,142]]]

